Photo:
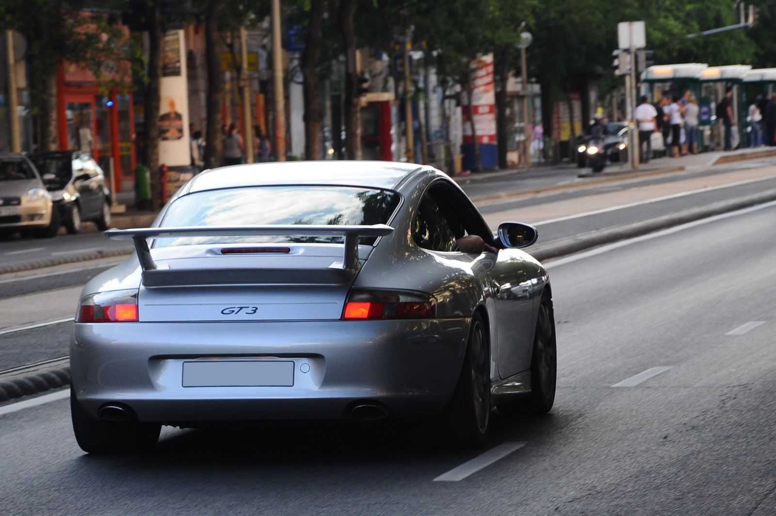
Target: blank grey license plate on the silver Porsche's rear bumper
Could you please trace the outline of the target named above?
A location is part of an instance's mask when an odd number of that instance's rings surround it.
[[[293,361],[183,362],[184,387],[291,387]]]

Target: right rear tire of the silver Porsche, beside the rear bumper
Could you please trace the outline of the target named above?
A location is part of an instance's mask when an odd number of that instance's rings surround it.
[[[443,431],[453,445],[476,448],[487,442],[490,427],[490,343],[482,317],[474,314],[461,374],[442,414]]]

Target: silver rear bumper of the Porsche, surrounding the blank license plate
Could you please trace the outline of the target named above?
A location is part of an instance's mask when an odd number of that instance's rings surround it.
[[[76,397],[140,421],[346,417],[358,400],[397,417],[438,414],[452,396],[469,319],[74,324]],[[184,387],[185,361],[294,362],[293,386]]]

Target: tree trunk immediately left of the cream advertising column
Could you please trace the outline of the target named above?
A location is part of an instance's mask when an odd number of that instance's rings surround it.
[[[161,43],[165,36],[159,2],[148,5],[148,84],[145,105],[145,163],[151,172],[151,205],[161,208],[161,171],[159,170],[159,109],[161,104]]]

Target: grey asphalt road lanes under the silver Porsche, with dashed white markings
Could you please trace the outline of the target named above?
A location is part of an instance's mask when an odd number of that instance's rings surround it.
[[[57,400],[0,407],[0,512],[774,514],[774,232],[770,206],[548,262],[556,407],[494,415],[491,448],[525,444],[460,481],[434,479],[483,451],[417,424],[167,428],[92,457]]]

